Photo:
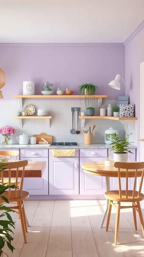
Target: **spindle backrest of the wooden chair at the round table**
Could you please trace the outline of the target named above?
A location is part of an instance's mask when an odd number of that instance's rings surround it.
[[[137,184],[137,173],[138,170],[142,170],[141,173],[141,180],[139,185],[139,191],[138,191],[138,197],[141,193],[142,188],[142,182],[144,177],[144,162],[115,162],[114,166],[118,168],[118,182],[119,182],[119,198],[121,199],[121,175],[120,175],[120,169],[125,169],[126,172],[123,171],[122,177],[126,177],[126,199],[128,199],[128,178],[129,178],[129,171],[133,170],[135,172],[135,180],[134,180],[134,186],[133,186],[133,193],[132,198],[135,198],[135,191],[136,191],[136,184]]]

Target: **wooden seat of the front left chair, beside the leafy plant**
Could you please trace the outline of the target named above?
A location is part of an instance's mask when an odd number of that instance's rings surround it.
[[[17,190],[17,196],[15,198],[14,197],[15,196],[15,191],[11,191],[11,199],[9,199],[8,198],[8,191],[6,191],[1,196],[5,196],[8,199],[9,203],[11,203],[11,202],[22,201],[22,200],[25,200],[25,199],[29,198],[29,193],[26,192],[26,191],[22,191],[22,197],[20,197],[20,191]],[[5,203],[5,201],[0,198],[0,203]]]

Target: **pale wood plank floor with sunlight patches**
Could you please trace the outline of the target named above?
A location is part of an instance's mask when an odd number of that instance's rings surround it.
[[[109,231],[99,228],[105,201],[25,201],[28,228],[24,244],[20,220],[16,221],[13,254],[9,257],[140,257],[144,256],[144,238],[139,218],[135,231],[131,209],[121,210],[118,245],[114,245],[115,208]],[[144,216],[144,210],[143,210]],[[6,255],[4,255],[6,257]]]

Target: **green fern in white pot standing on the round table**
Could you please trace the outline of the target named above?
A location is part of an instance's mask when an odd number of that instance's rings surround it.
[[[132,153],[129,149],[128,146],[133,143],[133,142],[127,142],[127,139],[129,138],[129,135],[127,137],[119,137],[117,133],[111,134],[112,136],[112,149],[110,151],[115,151],[114,152],[114,161],[118,162],[127,162],[128,160],[128,153]]]

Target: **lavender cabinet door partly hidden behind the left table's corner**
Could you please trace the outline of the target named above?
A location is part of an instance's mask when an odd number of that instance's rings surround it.
[[[21,161],[46,161],[46,169],[42,178],[24,178],[23,190],[30,195],[48,195],[48,158],[20,158]]]

